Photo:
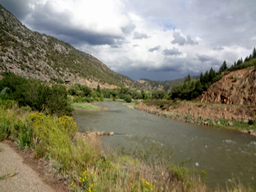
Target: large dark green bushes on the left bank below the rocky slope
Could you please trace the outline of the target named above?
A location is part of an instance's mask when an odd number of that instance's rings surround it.
[[[32,110],[44,111],[58,116],[71,114],[72,108],[67,101],[68,93],[64,86],[54,84],[49,87],[45,82],[36,79],[26,79],[6,72],[0,80],[0,90],[5,94],[2,99],[16,100],[18,105],[30,106]]]

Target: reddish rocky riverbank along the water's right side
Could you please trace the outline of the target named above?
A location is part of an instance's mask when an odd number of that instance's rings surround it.
[[[135,109],[170,119],[233,129],[256,136],[256,106],[147,100]]]

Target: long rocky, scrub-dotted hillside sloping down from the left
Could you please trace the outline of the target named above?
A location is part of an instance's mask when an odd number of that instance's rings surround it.
[[[0,72],[5,71],[43,81],[78,82],[91,88],[100,84],[101,88],[143,89],[140,83],[112,71],[67,42],[29,30],[0,6]]]

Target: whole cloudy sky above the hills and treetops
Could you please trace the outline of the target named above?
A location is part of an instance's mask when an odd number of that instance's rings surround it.
[[[0,0],[33,31],[134,80],[230,67],[256,47],[255,0]]]

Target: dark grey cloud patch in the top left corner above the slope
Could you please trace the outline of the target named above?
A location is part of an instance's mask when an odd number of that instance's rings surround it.
[[[20,20],[31,13],[32,9],[29,7],[29,2],[29,0],[0,0],[0,4]]]

